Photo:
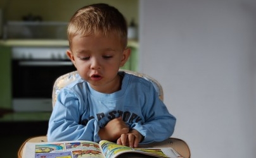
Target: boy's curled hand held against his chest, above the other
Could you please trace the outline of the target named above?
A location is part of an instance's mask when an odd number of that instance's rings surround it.
[[[99,129],[101,140],[115,141],[122,134],[129,132],[129,126],[125,124],[122,117],[112,119],[104,128]]]

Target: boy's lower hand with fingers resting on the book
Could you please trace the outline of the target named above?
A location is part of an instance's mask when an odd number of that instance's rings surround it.
[[[122,134],[117,140],[117,144],[127,147],[138,147],[139,142],[143,140],[143,135],[137,130],[131,130],[129,133]]]

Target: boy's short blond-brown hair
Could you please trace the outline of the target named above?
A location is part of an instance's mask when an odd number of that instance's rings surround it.
[[[90,36],[115,33],[124,48],[127,46],[127,21],[117,8],[104,3],[84,6],[75,12],[68,23],[70,48],[76,35]]]

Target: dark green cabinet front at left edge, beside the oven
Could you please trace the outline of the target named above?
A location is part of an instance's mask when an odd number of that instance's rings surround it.
[[[0,46],[0,108],[11,109],[11,47]]]

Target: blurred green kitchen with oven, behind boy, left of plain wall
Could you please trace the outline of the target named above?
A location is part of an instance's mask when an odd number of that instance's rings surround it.
[[[137,0],[0,1],[0,157],[17,157],[23,141],[46,135],[54,80],[75,70],[65,55],[67,23],[92,3],[108,3],[123,13],[132,49],[123,68],[137,70]]]

